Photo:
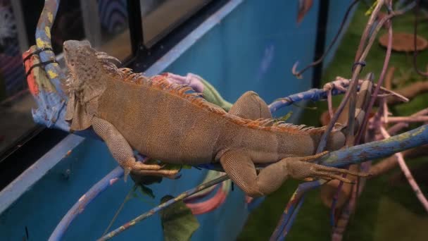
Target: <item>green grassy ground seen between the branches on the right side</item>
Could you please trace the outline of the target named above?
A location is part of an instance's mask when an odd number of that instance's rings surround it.
[[[365,16],[366,10],[365,4],[358,5],[353,20],[336,51],[334,60],[323,74],[322,83],[334,80],[338,75],[350,78],[355,51],[368,20],[368,16]],[[394,18],[394,32],[413,33],[413,20],[412,12]],[[385,32],[382,30],[379,36]],[[418,35],[428,38],[427,20],[418,25]],[[374,43],[369,56],[367,56],[367,66],[365,66],[361,76],[364,77],[367,73],[373,72],[378,78],[384,63],[385,53],[384,47],[379,46],[377,42]],[[427,64],[428,50],[425,50],[418,56],[418,65],[420,69],[426,70]],[[408,84],[408,82],[423,80],[412,70],[411,54],[393,52],[389,66],[397,68],[393,81],[396,87]],[[401,81],[401,76],[408,76],[408,81]],[[341,97],[335,97],[334,103],[337,105],[340,99]],[[426,108],[427,103],[428,94],[421,94],[407,104],[394,106],[391,111],[394,111],[396,115],[405,116]],[[320,125],[317,120],[320,113],[327,109],[326,102],[310,103],[309,106],[316,106],[317,109],[305,111],[301,123]],[[410,168],[421,166],[424,163],[427,166],[426,158],[406,161],[408,161]],[[428,240],[427,212],[422,208],[406,180],[391,181],[391,176],[399,172],[396,168],[379,178],[367,181],[365,190],[358,199],[355,214],[351,217],[346,233],[344,233],[344,240]],[[415,175],[415,179],[419,180],[422,192],[428,194],[427,178],[423,178],[423,174]],[[425,179],[424,182],[422,179]],[[268,240],[298,183],[295,180],[289,180],[277,192],[266,197],[265,201],[249,216],[238,240]],[[331,231],[329,209],[321,203],[319,190],[313,190],[307,194],[305,203],[298,213],[287,239],[330,240]]]

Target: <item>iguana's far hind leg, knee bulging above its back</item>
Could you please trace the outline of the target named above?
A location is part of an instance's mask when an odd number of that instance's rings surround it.
[[[230,108],[229,113],[250,120],[272,118],[266,102],[256,92],[252,91],[242,94]]]

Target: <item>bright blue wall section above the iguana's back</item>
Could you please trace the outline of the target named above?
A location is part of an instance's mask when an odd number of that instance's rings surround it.
[[[229,101],[248,90],[269,103],[308,89],[312,72],[296,80],[291,67],[313,61],[317,8],[298,26],[297,1],[244,1],[168,70],[203,76]]]

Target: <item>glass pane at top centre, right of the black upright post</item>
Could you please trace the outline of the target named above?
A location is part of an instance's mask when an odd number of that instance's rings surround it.
[[[211,0],[140,0],[144,45],[151,47]]]

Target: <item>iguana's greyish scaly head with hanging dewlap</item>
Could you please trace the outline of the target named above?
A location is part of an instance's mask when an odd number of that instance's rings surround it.
[[[115,63],[120,61],[96,51],[87,41],[65,41],[63,53],[69,73],[65,81],[69,97],[65,120],[71,121],[72,130],[84,130],[96,114],[108,73],[117,71]]]

